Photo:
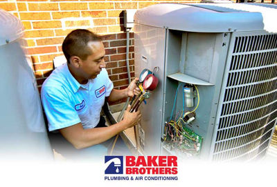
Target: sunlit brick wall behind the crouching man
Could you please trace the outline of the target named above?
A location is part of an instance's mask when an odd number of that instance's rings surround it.
[[[53,58],[62,55],[64,37],[76,28],[89,29],[102,35],[109,77],[115,88],[122,89],[128,84],[123,10],[144,8],[161,2],[166,1],[0,0],[0,8],[15,14],[24,24],[39,90],[53,70]],[[130,33],[130,39],[129,64],[134,77],[133,33]]]

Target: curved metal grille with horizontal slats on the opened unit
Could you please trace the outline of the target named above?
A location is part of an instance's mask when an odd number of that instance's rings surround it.
[[[242,34],[233,39],[222,88],[215,161],[262,157],[276,125],[277,35]]]

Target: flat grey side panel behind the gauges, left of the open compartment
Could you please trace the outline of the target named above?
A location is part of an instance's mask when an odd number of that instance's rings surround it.
[[[145,155],[159,155],[161,144],[161,124],[163,106],[163,79],[164,79],[164,58],[166,45],[166,29],[155,28],[135,24],[135,76],[139,77],[143,69],[154,71],[159,79],[157,88],[151,92],[147,104],[141,104],[142,119],[140,123],[141,136],[139,146]]]

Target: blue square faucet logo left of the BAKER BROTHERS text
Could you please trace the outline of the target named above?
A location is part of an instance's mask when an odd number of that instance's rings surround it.
[[[105,174],[123,174],[123,156],[105,156]]]

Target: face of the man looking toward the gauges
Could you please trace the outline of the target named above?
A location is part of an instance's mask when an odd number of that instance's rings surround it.
[[[102,68],[106,67],[105,48],[102,41],[90,41],[87,45],[91,48],[92,55],[80,63],[80,68],[84,72],[84,78],[95,79]]]

